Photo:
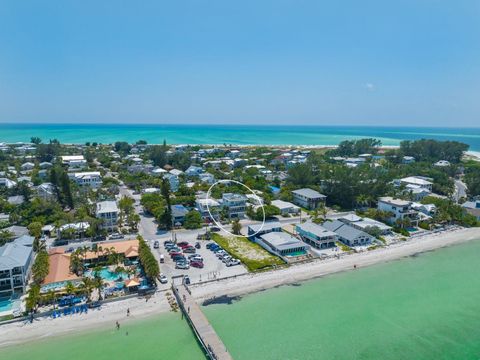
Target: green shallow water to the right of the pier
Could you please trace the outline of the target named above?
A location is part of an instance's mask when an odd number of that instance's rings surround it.
[[[203,309],[239,359],[479,359],[480,241]]]

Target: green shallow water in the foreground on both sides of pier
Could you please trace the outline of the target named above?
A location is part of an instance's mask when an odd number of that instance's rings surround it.
[[[479,257],[477,240],[203,310],[236,360],[479,359]],[[0,350],[2,359],[32,356],[205,359],[173,313],[121,332],[112,326]]]

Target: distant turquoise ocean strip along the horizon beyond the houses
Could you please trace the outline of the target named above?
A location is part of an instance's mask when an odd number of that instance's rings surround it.
[[[480,128],[369,126],[161,125],[161,124],[0,124],[0,142],[113,143],[146,140],[159,144],[336,145],[342,140],[374,137],[383,145],[421,138],[456,140],[480,150]]]

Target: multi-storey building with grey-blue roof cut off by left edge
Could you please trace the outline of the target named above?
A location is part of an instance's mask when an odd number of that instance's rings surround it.
[[[32,236],[23,235],[0,247],[0,298],[23,294],[33,260]]]

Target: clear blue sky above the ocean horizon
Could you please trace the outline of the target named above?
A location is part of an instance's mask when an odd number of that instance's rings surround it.
[[[0,1],[0,122],[480,126],[477,0]]]

